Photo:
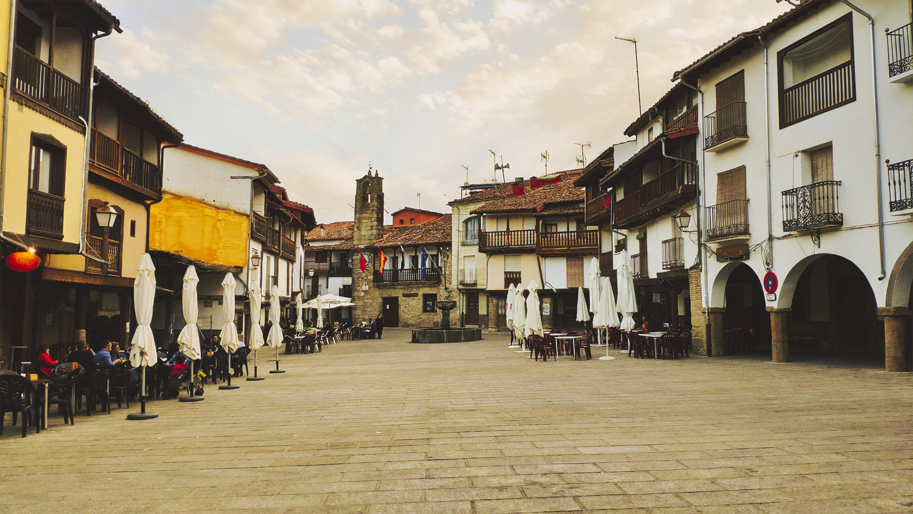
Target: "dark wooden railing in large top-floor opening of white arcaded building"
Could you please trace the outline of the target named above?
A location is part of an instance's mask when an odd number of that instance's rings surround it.
[[[780,96],[780,125],[785,127],[855,100],[853,61],[819,73],[811,79],[783,89]]]

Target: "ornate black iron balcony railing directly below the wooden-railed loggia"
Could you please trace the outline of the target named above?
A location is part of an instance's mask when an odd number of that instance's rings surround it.
[[[839,180],[826,180],[783,191],[783,232],[843,225],[839,191]]]

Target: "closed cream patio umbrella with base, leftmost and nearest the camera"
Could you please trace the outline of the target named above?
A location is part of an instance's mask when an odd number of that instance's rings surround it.
[[[142,366],[140,386],[140,414],[127,414],[127,419],[152,419],[159,414],[146,412],[146,366],[158,359],[155,338],[152,336],[152,305],[155,303],[155,266],[149,254],[142,254],[133,280],[133,310],[136,314],[136,331],[130,341],[130,363],[134,368]],[[22,420],[26,423],[26,420]]]

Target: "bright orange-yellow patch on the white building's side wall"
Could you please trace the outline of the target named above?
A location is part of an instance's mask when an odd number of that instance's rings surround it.
[[[226,266],[247,264],[246,215],[163,192],[152,205],[149,247]]]

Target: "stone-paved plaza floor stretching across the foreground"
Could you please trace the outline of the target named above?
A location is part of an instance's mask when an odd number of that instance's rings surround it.
[[[204,402],[152,402],[151,421],[124,419],[136,405],[75,426],[53,414],[21,439],[7,416],[0,511],[913,511],[908,373],[542,363],[503,332],[446,345],[385,335],[284,357],[288,372],[207,386]]]

